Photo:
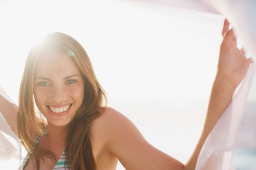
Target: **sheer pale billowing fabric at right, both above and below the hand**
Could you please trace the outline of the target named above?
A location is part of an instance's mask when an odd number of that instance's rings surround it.
[[[248,0],[202,0],[202,2],[209,4],[226,16],[244,45],[243,48],[252,56],[253,61],[256,61],[256,12],[254,10],[256,2]],[[255,151],[252,152],[256,148],[256,126],[254,123],[256,116],[255,110],[253,110],[255,104],[246,104],[255,69],[254,62],[248,69],[233,101],[208,136],[198,157],[197,170],[255,168],[255,160],[253,163],[252,161],[245,162],[245,159],[242,159],[243,162],[239,166],[241,158],[238,157],[244,153],[254,154],[255,158]]]

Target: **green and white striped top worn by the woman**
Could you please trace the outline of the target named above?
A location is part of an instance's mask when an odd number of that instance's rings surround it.
[[[43,133],[42,135],[38,135],[38,136],[35,138],[34,142],[35,142],[36,145],[39,143],[39,141],[41,140],[41,138],[42,138],[43,136],[47,135],[47,133],[48,133],[47,129],[44,130],[44,132],[45,132],[45,133]],[[60,159],[58,160],[58,162],[56,163],[56,165],[54,166],[53,169],[58,169],[58,170],[65,170],[65,169],[66,169],[66,170],[71,170],[71,167],[65,166],[66,154],[67,154],[67,153],[66,153],[66,151],[65,151],[65,149],[64,149],[63,152],[62,152],[62,154],[61,154]],[[24,160],[23,160],[22,169],[24,169],[24,167],[26,166],[28,160],[29,160],[29,155],[27,154],[27,155],[25,156]]]

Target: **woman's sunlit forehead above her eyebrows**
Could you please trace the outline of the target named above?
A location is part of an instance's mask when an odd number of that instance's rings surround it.
[[[64,52],[47,52],[38,57],[35,76],[80,74],[75,62]]]

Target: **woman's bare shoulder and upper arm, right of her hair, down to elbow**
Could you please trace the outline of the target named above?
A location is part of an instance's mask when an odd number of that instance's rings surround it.
[[[183,164],[150,145],[124,115],[109,108],[103,115],[106,148],[126,169],[183,169]]]

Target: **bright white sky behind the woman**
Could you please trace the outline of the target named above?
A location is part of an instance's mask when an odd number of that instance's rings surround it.
[[[109,106],[150,144],[188,160],[217,70],[222,16],[128,0],[0,1],[0,21],[0,84],[15,103],[32,44],[64,32],[87,51]]]

